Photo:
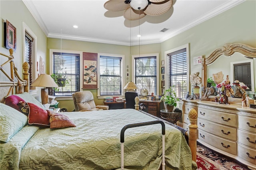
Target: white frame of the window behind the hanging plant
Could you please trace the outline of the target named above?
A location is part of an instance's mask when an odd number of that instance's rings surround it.
[[[50,49],[49,50],[49,73],[52,75],[53,73],[53,53],[76,53],[80,55],[80,87],[79,91],[82,91],[82,85],[83,85],[83,79],[81,78],[81,75],[83,74],[83,67],[81,67],[83,63],[83,52],[82,51],[72,51],[72,50],[64,50],[64,49]],[[73,99],[72,96],[56,96],[56,99],[58,100],[71,100]]]

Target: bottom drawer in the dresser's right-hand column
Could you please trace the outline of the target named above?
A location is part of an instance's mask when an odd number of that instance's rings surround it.
[[[238,144],[238,156],[248,162],[256,164],[256,150]]]

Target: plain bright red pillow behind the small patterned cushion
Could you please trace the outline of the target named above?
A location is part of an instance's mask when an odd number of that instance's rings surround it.
[[[41,107],[28,103],[28,124],[40,127],[50,127],[50,116],[48,112]]]

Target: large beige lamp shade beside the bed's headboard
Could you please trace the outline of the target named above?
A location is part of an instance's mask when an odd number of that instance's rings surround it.
[[[30,86],[35,87],[58,87],[52,77],[48,74],[41,74]]]

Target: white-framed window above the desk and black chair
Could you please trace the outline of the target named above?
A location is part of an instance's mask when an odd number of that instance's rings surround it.
[[[134,83],[140,95],[140,89],[148,89],[149,93],[159,94],[159,59],[158,54],[132,55]]]

